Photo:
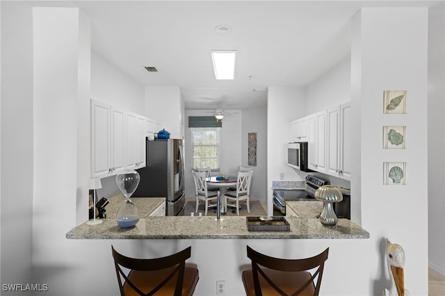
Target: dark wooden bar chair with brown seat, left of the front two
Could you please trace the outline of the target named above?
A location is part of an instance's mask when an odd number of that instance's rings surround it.
[[[121,296],[193,295],[200,279],[197,268],[186,266],[191,247],[162,258],[130,258],[111,246]]]

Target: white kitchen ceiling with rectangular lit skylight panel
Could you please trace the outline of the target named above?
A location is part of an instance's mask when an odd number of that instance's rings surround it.
[[[390,3],[404,2],[30,2],[81,8],[92,22],[92,50],[138,83],[179,85],[186,109],[266,106],[269,85],[306,85],[349,55],[359,8]],[[232,31],[217,33],[220,25]],[[216,81],[212,49],[238,51],[233,81]]]

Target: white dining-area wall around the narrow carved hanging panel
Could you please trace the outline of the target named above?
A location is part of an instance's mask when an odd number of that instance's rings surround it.
[[[243,110],[241,166],[252,167],[250,196],[267,202],[267,108]],[[248,164],[248,133],[257,133],[257,165]]]

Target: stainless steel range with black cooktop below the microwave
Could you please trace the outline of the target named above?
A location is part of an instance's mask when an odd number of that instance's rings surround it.
[[[327,184],[329,184],[328,181],[307,175],[304,189],[274,189],[273,208],[280,211],[282,215],[286,215],[286,201],[315,199],[316,190]]]

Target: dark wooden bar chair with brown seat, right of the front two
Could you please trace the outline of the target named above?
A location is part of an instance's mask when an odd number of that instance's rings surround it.
[[[320,292],[329,248],[316,256],[302,259],[275,258],[249,246],[247,249],[252,269],[244,270],[241,276],[246,295],[317,296]]]

